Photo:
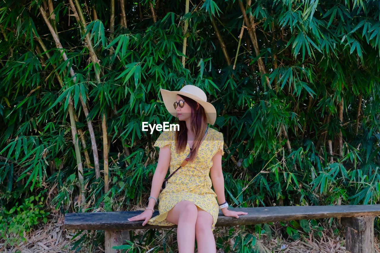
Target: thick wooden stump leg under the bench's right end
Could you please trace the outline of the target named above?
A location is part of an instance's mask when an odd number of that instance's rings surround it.
[[[346,250],[353,253],[375,252],[374,216],[342,217],[346,229]]]

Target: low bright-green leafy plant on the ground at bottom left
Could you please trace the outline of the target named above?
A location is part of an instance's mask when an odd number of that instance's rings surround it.
[[[4,247],[25,242],[24,235],[34,225],[41,221],[47,222],[49,212],[42,209],[44,201],[44,197],[41,196],[42,193],[25,198],[21,205],[16,202],[16,205],[10,210],[0,209],[0,238],[5,241]]]

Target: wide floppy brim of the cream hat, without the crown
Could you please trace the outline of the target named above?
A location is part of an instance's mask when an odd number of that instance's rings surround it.
[[[216,120],[216,110],[215,110],[215,107],[211,103],[203,101],[198,96],[193,95],[191,93],[187,93],[187,92],[170,91],[170,90],[165,90],[165,89],[160,89],[160,92],[161,92],[162,100],[165,104],[166,109],[174,117],[177,117],[177,111],[176,109],[174,109],[173,103],[177,100],[177,94],[179,94],[179,95],[187,96],[197,101],[201,106],[203,106],[204,111],[206,112],[207,123],[214,125],[215,120]]]

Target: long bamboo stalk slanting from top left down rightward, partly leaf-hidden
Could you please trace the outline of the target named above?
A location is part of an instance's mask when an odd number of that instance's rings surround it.
[[[52,37],[53,37],[53,39],[55,41],[55,44],[56,44],[57,48],[60,50],[60,52],[62,52],[63,60],[67,61],[67,55],[66,55],[66,53],[62,49],[63,47],[62,47],[62,44],[59,41],[59,37],[55,33],[55,31],[54,31],[52,25],[50,24],[50,22],[47,20],[46,13],[45,13],[45,11],[44,11],[44,9],[42,7],[40,7],[40,13],[41,13],[44,21],[46,22],[46,25],[49,28],[49,31],[52,34]],[[76,77],[75,77],[75,73],[74,73],[73,68],[70,67],[69,71],[70,71],[71,77],[73,77],[74,82],[76,82]],[[97,144],[96,144],[96,139],[95,139],[95,133],[93,131],[92,121],[88,117],[89,116],[89,110],[87,108],[87,105],[86,105],[85,101],[83,101],[82,96],[79,96],[79,100],[81,101],[83,112],[86,115],[86,119],[87,119],[87,127],[89,128],[90,139],[91,139],[91,144],[92,144],[92,152],[93,152],[93,157],[94,157],[95,175],[96,175],[96,178],[98,179],[100,177],[100,166],[99,166],[98,149],[97,149]]]

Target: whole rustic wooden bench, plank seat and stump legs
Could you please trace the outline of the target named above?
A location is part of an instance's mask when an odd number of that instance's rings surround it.
[[[380,215],[380,204],[353,205],[353,206],[276,206],[276,207],[247,207],[229,210],[247,212],[239,218],[226,217],[219,210],[218,221],[215,226],[254,225],[274,221],[310,220],[320,218],[341,218],[341,224],[346,229],[346,249],[357,253],[373,253],[374,246],[374,218]],[[67,213],[65,215],[65,229],[105,230],[105,252],[117,252],[113,246],[124,244],[129,240],[127,230],[151,228],[176,228],[177,226],[156,226],[146,224],[143,220],[128,221],[127,218],[142,213],[142,211],[125,212],[96,212],[96,213]],[[152,217],[158,215],[155,211]]]

